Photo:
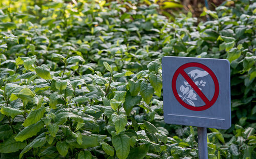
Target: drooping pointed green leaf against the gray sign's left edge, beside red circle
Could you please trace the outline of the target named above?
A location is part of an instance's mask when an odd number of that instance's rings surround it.
[[[155,71],[152,71],[150,73],[150,83],[153,86],[153,88],[155,89],[156,95],[158,97],[161,97],[161,90],[162,90],[162,86],[163,86],[162,78],[159,74],[157,75]]]

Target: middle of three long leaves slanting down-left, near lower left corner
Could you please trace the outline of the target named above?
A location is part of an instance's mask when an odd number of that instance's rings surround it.
[[[25,127],[25,129],[23,129],[16,135],[15,140],[23,142],[24,140],[36,135],[37,132],[39,132],[43,127],[44,127],[43,121],[39,121],[35,124],[29,125],[28,127]]]

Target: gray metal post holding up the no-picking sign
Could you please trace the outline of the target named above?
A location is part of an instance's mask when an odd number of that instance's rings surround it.
[[[208,159],[206,127],[197,127],[199,159]]]

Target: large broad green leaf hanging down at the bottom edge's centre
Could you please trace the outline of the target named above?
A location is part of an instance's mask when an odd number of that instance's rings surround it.
[[[129,138],[126,134],[118,134],[112,137],[112,143],[116,150],[116,155],[119,159],[125,159],[130,152],[130,142],[131,138]]]

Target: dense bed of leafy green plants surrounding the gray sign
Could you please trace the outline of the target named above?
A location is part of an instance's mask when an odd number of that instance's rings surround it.
[[[255,158],[256,2],[168,21],[136,1],[0,2],[1,158],[198,158],[165,124],[161,58],[226,58],[232,126],[209,158]]]

